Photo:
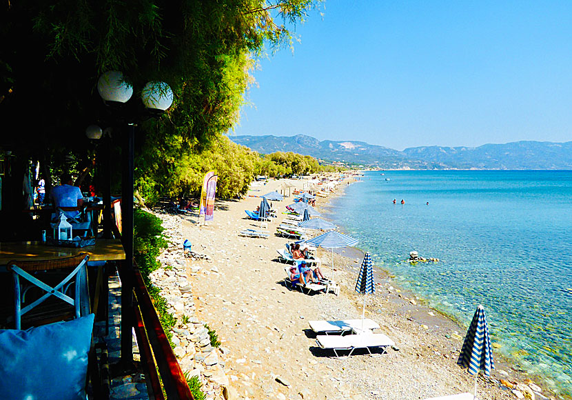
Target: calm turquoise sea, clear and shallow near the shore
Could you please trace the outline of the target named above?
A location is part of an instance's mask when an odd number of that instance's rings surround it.
[[[496,352],[572,395],[572,171],[380,173],[334,201],[334,222],[466,326],[482,304]],[[441,261],[410,266],[411,250]]]

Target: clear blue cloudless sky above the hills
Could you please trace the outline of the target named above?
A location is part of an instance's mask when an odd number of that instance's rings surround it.
[[[234,135],[396,150],[572,141],[572,1],[330,0],[259,61]]]

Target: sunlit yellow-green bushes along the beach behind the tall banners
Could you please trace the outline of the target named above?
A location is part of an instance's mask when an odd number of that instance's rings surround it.
[[[190,147],[183,137],[174,138],[165,142],[160,135],[147,137],[148,143],[139,154],[135,186],[147,204],[163,196],[198,196],[208,171],[218,175],[216,195],[222,199],[246,194],[256,175],[283,177],[336,171],[331,166],[320,166],[313,157],[294,152],[261,155],[225,136]]]

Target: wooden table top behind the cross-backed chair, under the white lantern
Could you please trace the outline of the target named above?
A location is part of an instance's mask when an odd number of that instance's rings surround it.
[[[97,239],[93,246],[81,248],[48,246],[41,241],[0,242],[0,266],[12,260],[34,257],[37,259],[57,259],[81,252],[90,254],[90,261],[116,261],[125,259],[125,250],[119,239]]]

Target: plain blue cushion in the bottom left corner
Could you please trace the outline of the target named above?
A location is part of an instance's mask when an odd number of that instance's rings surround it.
[[[0,330],[0,399],[85,400],[93,321]]]

